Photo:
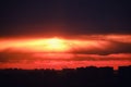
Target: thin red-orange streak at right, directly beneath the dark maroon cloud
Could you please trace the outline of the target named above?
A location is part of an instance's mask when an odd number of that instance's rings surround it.
[[[131,53],[115,53],[107,55],[99,54],[76,54],[75,58],[70,59],[73,61],[131,61]]]

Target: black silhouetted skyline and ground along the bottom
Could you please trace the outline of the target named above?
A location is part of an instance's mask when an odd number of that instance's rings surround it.
[[[131,87],[131,66],[0,70],[0,87]]]

